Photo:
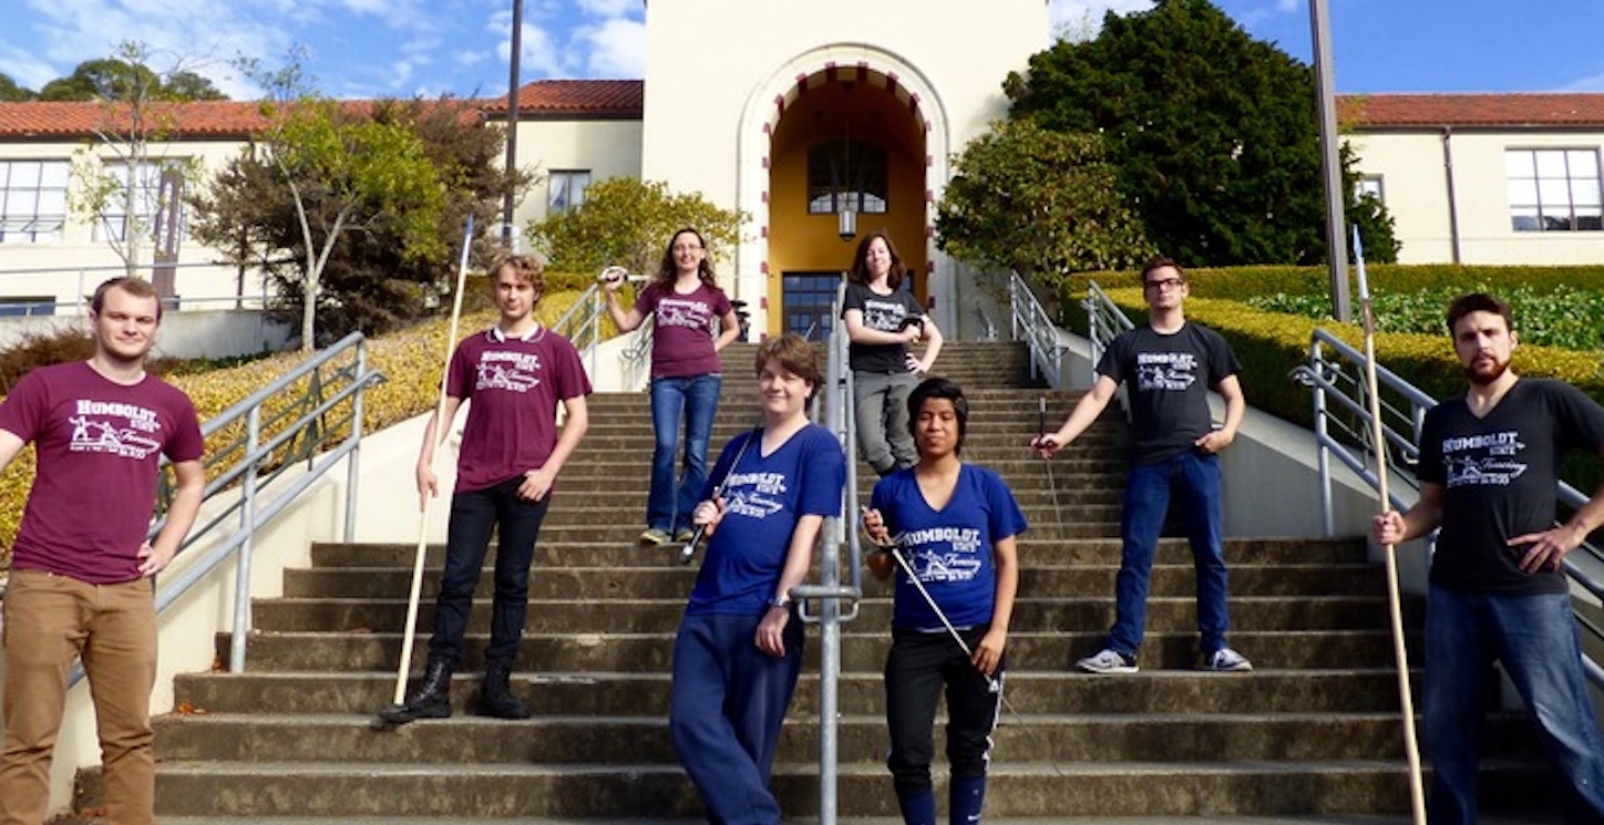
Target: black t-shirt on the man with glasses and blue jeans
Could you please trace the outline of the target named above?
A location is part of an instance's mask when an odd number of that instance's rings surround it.
[[[1097,373],[1131,394],[1131,460],[1153,463],[1193,449],[1214,428],[1208,391],[1241,372],[1217,332],[1187,322],[1173,333],[1137,327],[1108,344]]]

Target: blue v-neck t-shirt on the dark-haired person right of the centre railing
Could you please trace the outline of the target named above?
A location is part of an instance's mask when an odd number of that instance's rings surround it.
[[[1014,493],[996,473],[962,465],[953,498],[937,511],[919,492],[914,468],[900,469],[874,485],[869,506],[881,511],[892,535],[903,537],[908,564],[953,626],[991,622],[996,601],[991,548],[1027,527]],[[942,618],[930,610],[901,565],[897,565],[892,625],[942,630]]]

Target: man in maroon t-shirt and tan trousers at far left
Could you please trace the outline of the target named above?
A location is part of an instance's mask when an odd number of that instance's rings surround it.
[[[38,458],[5,596],[3,825],[45,820],[74,657],[95,702],[106,815],[156,822],[151,577],[178,553],[205,485],[194,405],[144,373],[160,320],[144,280],[101,284],[90,304],[95,356],[27,373],[0,405],[0,468],[27,442]],[[167,524],[148,541],[162,455],[178,485]]]

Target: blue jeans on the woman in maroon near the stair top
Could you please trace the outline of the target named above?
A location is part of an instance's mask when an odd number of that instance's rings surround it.
[[[651,380],[651,492],[646,493],[646,527],[666,533],[691,529],[691,511],[707,485],[707,442],[719,412],[720,373]],[[675,487],[674,453],[678,452],[680,415],[685,417],[685,473]]]

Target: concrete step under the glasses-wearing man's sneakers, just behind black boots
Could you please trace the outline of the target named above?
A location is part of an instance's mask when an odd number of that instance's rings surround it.
[[[473,679],[462,676],[464,689],[452,690],[452,706],[459,713],[472,711]],[[395,673],[189,673],[180,674],[173,689],[178,705],[207,713],[372,714],[393,698]],[[542,716],[662,716],[667,713],[669,674],[515,673],[513,689]],[[885,710],[879,668],[844,671],[839,690],[840,706],[853,713],[877,714]],[[1240,713],[1245,708],[1259,713],[1392,713],[1399,706],[1397,674],[1391,668],[1259,668],[1253,673],[1144,670],[1120,676],[1015,671],[1007,678],[1007,692],[1014,708],[1027,714]],[[815,714],[818,674],[804,671],[791,716]]]

